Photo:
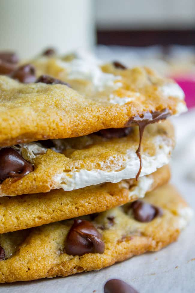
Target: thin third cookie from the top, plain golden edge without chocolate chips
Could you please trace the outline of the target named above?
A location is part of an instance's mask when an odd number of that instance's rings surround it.
[[[147,191],[167,183],[169,179],[170,168],[166,165],[151,175],[140,177],[138,182],[129,179],[73,191],[56,189],[46,194],[1,197],[0,233],[103,212],[144,197]]]

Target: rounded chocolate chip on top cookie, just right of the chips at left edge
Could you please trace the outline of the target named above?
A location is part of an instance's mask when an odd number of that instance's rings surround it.
[[[16,79],[23,83],[35,82],[35,67],[31,64],[25,64],[16,68],[11,74],[10,77]]]

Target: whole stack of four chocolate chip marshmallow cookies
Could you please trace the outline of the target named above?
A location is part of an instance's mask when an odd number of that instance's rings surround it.
[[[175,241],[167,117],[184,93],[148,68],[0,53],[0,282],[99,270]]]

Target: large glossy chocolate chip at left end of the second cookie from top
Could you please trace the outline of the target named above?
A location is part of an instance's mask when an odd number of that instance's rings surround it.
[[[13,148],[0,150],[0,181],[10,178],[23,177],[34,170],[34,167],[24,160]]]

